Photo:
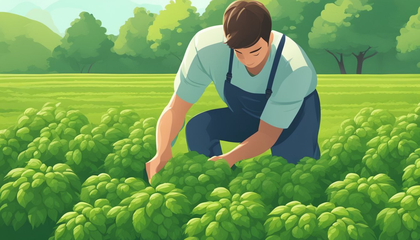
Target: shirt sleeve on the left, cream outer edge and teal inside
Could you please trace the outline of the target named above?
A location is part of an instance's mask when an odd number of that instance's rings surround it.
[[[198,57],[196,36],[189,42],[173,84],[176,95],[188,103],[196,103],[212,81]]]

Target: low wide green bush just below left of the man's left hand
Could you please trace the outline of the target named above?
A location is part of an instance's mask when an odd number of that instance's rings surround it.
[[[86,179],[81,185],[80,200],[94,204],[96,200],[105,198],[110,206],[117,206],[124,198],[146,187],[142,179],[134,177],[116,179],[101,173]]]

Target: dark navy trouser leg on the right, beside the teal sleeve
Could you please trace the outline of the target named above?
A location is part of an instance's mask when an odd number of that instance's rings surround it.
[[[321,118],[318,92],[306,98],[291,125],[271,147],[273,156],[281,156],[296,164],[304,157],[320,158],[318,133]]]

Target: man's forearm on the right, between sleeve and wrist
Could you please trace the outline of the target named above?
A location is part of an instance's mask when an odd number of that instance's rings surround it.
[[[275,142],[276,141],[272,136],[257,131],[246,140],[241,142],[238,146],[236,146],[236,148],[220,156],[224,158],[229,164],[233,165],[237,161],[253,158],[264,153],[270,149]]]

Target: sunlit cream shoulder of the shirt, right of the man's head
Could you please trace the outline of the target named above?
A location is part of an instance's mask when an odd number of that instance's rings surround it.
[[[280,43],[281,37],[283,36],[283,33],[273,30],[273,34],[273,44],[275,44],[277,48],[278,44]],[[302,47],[300,47],[293,39],[291,39],[287,35],[281,56],[284,59],[284,61],[286,61],[286,64],[290,66],[291,71],[295,71],[296,69],[299,69],[301,67],[304,67],[305,69],[313,68],[312,63],[310,62]]]

